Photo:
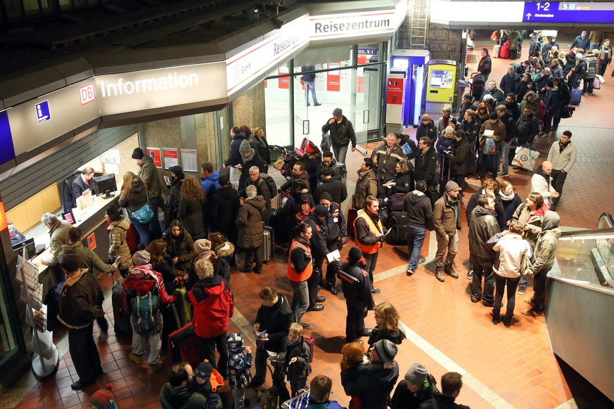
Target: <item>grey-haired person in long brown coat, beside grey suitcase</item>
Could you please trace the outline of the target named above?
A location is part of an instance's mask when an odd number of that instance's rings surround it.
[[[262,196],[258,196],[256,186],[250,185],[245,188],[247,198],[241,198],[241,209],[238,212],[238,247],[245,249],[245,264],[239,267],[239,271],[262,274],[262,252],[260,247],[264,244],[264,225],[262,224],[262,214],[266,204]],[[253,260],[256,265],[253,265]]]

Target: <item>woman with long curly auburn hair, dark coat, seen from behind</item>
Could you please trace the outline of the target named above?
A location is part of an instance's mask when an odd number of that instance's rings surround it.
[[[207,226],[205,224],[205,205],[207,197],[203,188],[192,176],[186,176],[184,183],[181,184],[179,191],[179,210],[177,217],[193,240],[205,238],[207,236]]]

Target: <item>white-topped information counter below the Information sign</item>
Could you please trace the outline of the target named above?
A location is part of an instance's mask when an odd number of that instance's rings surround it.
[[[94,252],[105,261],[108,259],[109,250],[109,232],[107,228],[107,222],[105,220],[105,209],[109,204],[117,205],[117,201],[120,197],[120,191],[115,192],[115,196],[105,198],[103,196],[94,197],[94,202],[87,208],[79,211],[78,209],[72,209],[75,215],[75,224],[73,226],[80,228],[83,231],[83,245],[94,250]],[[50,236],[49,233],[45,233],[40,238],[37,238],[37,243],[46,243],[49,245]],[[49,259],[52,255],[51,248],[47,248],[44,252],[41,252],[37,257],[32,260],[32,263],[36,264],[39,268],[39,283],[43,285],[43,299],[46,299],[49,290],[53,288],[58,282],[53,275],[53,268],[45,266],[42,261]]]

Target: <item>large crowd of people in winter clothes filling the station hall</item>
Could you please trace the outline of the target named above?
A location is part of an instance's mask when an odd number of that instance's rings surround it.
[[[544,39],[536,41],[545,47]],[[279,188],[268,175],[269,152],[274,147],[269,147],[261,128],[253,133],[248,126],[232,128],[231,152],[220,171],[204,162],[197,181],[175,166],[170,169],[170,186],[151,158],[136,148],[132,157],[140,170],[124,174],[120,207],[105,211],[110,264],[83,248],[82,232],[77,228],[50,214],[42,218],[54,252],[45,262],[60,266],[68,283],[62,289],[65,297],[58,316],[69,328],[79,375],[72,387],[87,386],[101,373],[92,322],[98,320],[102,332],[108,330],[108,323],[92,272],[118,269],[124,278],[124,310],[131,316],[133,329],[130,361],[147,363],[154,373],[164,366],[160,358],[163,332],[191,321],[198,336],[198,352],[206,361],[196,369],[188,363],[172,366],[169,383],[160,391],[165,408],[219,407],[219,396],[211,385],[215,373],[228,379],[235,408],[243,408],[245,389],[264,384],[267,362],[275,368],[272,378],[280,397],[296,402],[297,406],[290,407],[338,407],[330,400],[330,378],[316,375],[308,382],[313,340],[302,334],[311,326],[303,316],[324,309],[326,297],[318,294],[320,287],[333,295],[340,290],[345,298],[340,370],[353,408],[385,408],[389,403],[392,408],[436,408],[454,403],[462,385],[455,372],[443,375],[439,391],[435,377],[421,363],[414,363],[397,384],[395,356],[405,335],[395,307],[376,304],[373,299],[373,294],[380,293],[373,277],[378,253],[383,242],[390,240],[389,228],[397,224],[397,219],[390,223],[391,216],[400,212],[404,223],[395,231],[402,228],[401,240],[407,244],[407,275],[416,272],[426,231],[433,231],[437,240],[435,278],[441,282],[445,275],[458,279],[454,260],[459,248],[461,198],[465,179],[477,174],[482,188],[465,207],[471,301],[492,308],[492,323],[503,321],[509,327],[516,291],[524,294],[532,278],[534,294],[525,298],[530,308],[522,312],[531,317],[543,315],[546,274],[554,264],[561,234],[554,211],[576,156],[571,132],[563,132],[551,145],[547,160],[532,175],[531,193],[525,200],[514,193],[509,181],[497,180],[497,176],[508,176],[511,146],[529,147],[540,130],[554,136],[551,132],[561,119],[559,112],[568,103],[562,91],[565,81],[575,87],[582,79],[577,74],[582,68],[576,68],[587,65],[578,58],[584,50],[570,51],[575,58],[570,74],[565,67],[562,77],[551,77],[561,53],[556,53],[555,46],[547,48],[545,53],[542,48],[532,53],[535,57],[518,67],[511,65],[500,89],[492,81],[479,101],[471,94],[463,96],[458,117],[449,108],[442,110],[437,123],[423,115],[417,143],[404,134],[386,135],[372,155],[362,160],[353,195],[347,192],[344,162],[356,139],[352,123],[339,108],[322,128],[330,146],[320,150],[310,145]],[[608,40],[594,49],[605,53],[601,62],[611,57]],[[539,72],[537,77],[535,72]],[[587,92],[591,93],[590,86]],[[540,117],[542,105],[545,110]],[[487,173],[490,178],[485,177]],[[274,207],[277,195],[283,197],[283,204]],[[346,216],[341,205],[348,197]],[[151,209],[149,216],[143,216],[144,207]],[[227,333],[234,314],[230,271],[231,264],[238,264],[238,271],[262,274],[270,258],[264,254],[265,240],[271,240],[265,234],[269,226],[278,244],[288,248],[286,276],[292,299],[274,287],[262,288],[262,305],[253,323],[257,345],[252,353],[244,345],[245,335]],[[342,261],[336,252],[350,244],[346,236],[353,243]],[[242,264],[236,250],[243,253]],[[183,322],[169,313],[169,305],[186,311]],[[375,317],[373,329],[365,325],[368,311]],[[359,342],[362,337],[369,337],[366,344]],[[78,368],[77,356],[83,357]],[[308,383],[310,391],[302,393]],[[308,406],[298,406],[301,399]]]

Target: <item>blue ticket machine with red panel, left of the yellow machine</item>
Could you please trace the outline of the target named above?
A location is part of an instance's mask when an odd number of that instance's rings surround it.
[[[386,122],[418,126],[428,50],[394,50],[390,56],[386,92]]]

